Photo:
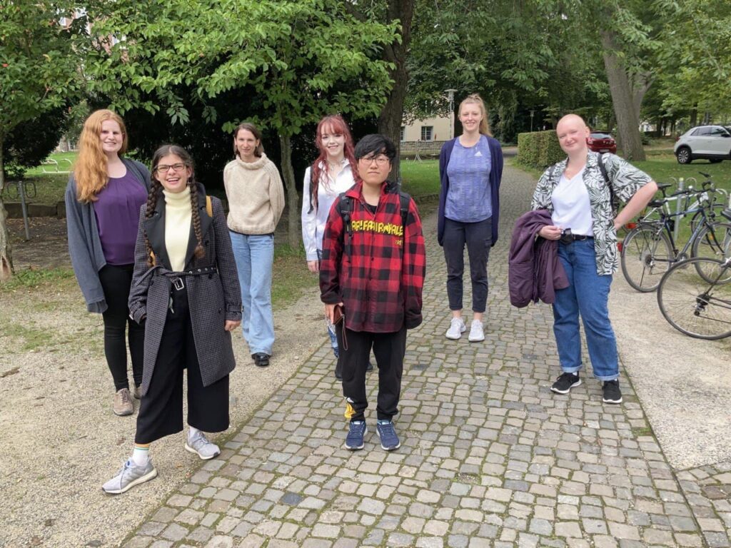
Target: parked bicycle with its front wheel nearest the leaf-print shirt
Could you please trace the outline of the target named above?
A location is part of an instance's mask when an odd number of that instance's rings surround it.
[[[653,292],[659,286],[662,275],[676,262],[689,256],[705,256],[711,259],[725,259],[729,256],[731,223],[715,222],[716,214],[709,199],[712,191],[715,191],[713,183],[706,181],[701,190],[687,189],[676,192],[670,198],[663,197],[650,202],[649,205],[655,208],[659,217],[643,217],[635,228],[627,233],[622,243],[620,254],[622,273],[630,286],[639,292]],[[700,218],[689,240],[678,250],[673,237],[675,219],[696,211],[686,207],[679,213],[670,213],[667,203],[669,199],[681,199],[683,196],[686,201],[692,196],[697,197],[697,215]],[[700,270],[699,274],[703,275]]]

